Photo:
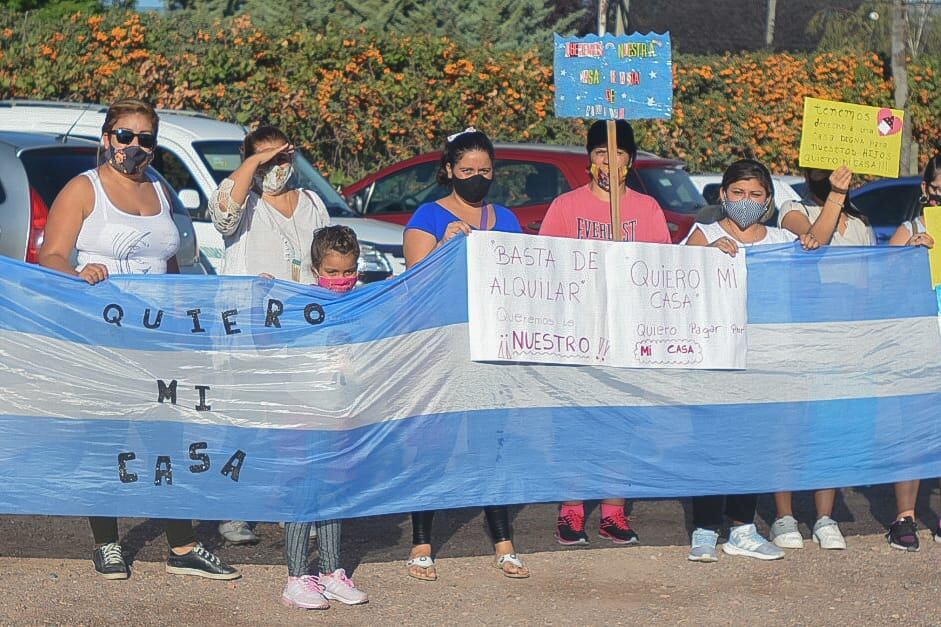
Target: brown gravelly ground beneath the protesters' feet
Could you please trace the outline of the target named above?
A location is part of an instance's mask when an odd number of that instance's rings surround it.
[[[937,520],[937,492],[934,483],[923,486],[924,525]],[[809,520],[809,498],[797,504],[798,517]],[[763,499],[764,520],[769,508],[770,499]],[[839,501],[835,518],[849,550],[827,552],[808,543],[780,562],[721,553],[717,564],[687,562],[688,509],[683,501],[636,503],[633,517],[644,546],[611,548],[593,539],[590,548],[574,550],[552,541],[552,506],[518,509],[516,536],[533,571],[524,581],[505,579],[492,567],[479,511],[436,520],[440,579],[434,583],[404,575],[410,541],[404,516],[349,521],[344,557],[371,602],[326,612],[279,604],[285,569],[277,525],[259,525],[262,541],[255,547],[218,547],[244,573],[237,582],[220,583],[165,574],[159,526],[122,521],[134,576],[104,582],[88,560],[84,520],[3,517],[0,623],[941,624],[941,545],[927,531],[920,553],[886,545],[881,534],[893,514],[887,488],[848,490]],[[597,511],[589,526],[597,526]],[[209,523],[199,526],[198,535],[218,546]]]

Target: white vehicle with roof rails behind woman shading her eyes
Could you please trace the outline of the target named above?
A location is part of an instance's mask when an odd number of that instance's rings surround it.
[[[107,107],[69,102],[0,101],[0,130],[40,131],[97,141]],[[205,263],[218,271],[222,265],[222,236],[213,227],[208,199],[219,182],[242,162],[240,149],[247,129],[200,113],[158,110],[159,145],[153,161],[179,193],[193,217],[196,238]],[[405,270],[403,227],[363,218],[302,155],[295,164],[298,182],[315,191],[327,206],[331,222],[356,231],[360,241],[360,273],[366,281]]]

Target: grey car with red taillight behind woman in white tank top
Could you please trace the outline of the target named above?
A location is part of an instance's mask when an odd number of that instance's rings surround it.
[[[0,131],[0,255],[39,262],[46,218],[53,200],[73,177],[98,163],[95,142],[49,133]],[[153,168],[148,171],[166,181]],[[203,274],[189,213],[173,192],[173,221],[180,232],[180,272]]]

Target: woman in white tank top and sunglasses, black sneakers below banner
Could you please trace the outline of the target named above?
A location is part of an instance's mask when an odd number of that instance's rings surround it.
[[[169,191],[147,172],[157,145],[157,113],[135,99],[112,104],[101,128],[104,161],[68,182],[52,203],[39,263],[94,285],[111,275],[178,272],[180,235]],[[78,267],[69,262],[78,252]],[[95,570],[130,575],[116,518],[92,517]],[[192,521],[167,520],[167,572],[235,579],[239,572],[196,542]]]

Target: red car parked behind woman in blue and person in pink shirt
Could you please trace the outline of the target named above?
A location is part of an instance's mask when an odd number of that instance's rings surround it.
[[[496,178],[487,198],[511,209],[523,230],[536,233],[554,198],[589,181],[588,155],[577,146],[496,144]],[[440,152],[385,167],[343,189],[350,206],[378,220],[406,224],[419,205],[449,189],[435,176]],[[682,161],[638,152],[628,174],[630,188],[653,196],[667,218],[674,242],[682,240],[705,204]]]

